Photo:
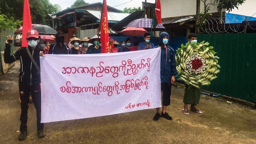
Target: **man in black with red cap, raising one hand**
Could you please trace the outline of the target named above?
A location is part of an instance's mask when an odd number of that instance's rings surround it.
[[[29,30],[27,33],[28,51],[35,59],[36,64],[40,67],[39,53],[44,52],[38,46],[39,35],[36,30]],[[4,62],[12,63],[20,60],[20,76],[19,76],[19,91],[20,91],[20,132],[19,140],[24,140],[27,137],[27,121],[28,121],[28,106],[29,96],[31,94],[32,100],[36,108],[36,123],[37,136],[42,138],[45,136],[44,124],[41,123],[41,89],[40,89],[40,73],[28,55],[26,47],[20,47],[12,55],[11,44],[13,37],[9,36],[5,41]]]

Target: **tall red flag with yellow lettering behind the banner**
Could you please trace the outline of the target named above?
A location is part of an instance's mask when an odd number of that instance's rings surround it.
[[[101,53],[109,53],[108,9],[106,0],[103,0],[103,7],[100,18],[100,42]]]

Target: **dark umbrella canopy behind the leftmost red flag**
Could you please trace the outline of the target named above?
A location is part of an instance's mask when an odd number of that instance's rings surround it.
[[[36,30],[39,35],[55,35],[57,33],[56,30],[46,25],[32,24],[32,29]],[[22,33],[22,26],[14,32],[14,34],[19,33]]]

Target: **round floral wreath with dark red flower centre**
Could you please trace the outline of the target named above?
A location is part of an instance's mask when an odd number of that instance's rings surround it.
[[[210,85],[210,81],[217,78],[216,74],[220,72],[219,57],[214,56],[213,47],[206,47],[208,45],[209,43],[204,41],[181,44],[175,56],[180,80],[200,88],[202,85]]]

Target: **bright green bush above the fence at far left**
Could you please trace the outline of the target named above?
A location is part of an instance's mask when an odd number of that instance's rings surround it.
[[[1,13],[1,12],[0,12]],[[3,29],[13,29],[16,30],[17,26],[21,26],[20,20],[14,20],[13,17],[7,18],[6,15],[0,14],[0,31]]]

